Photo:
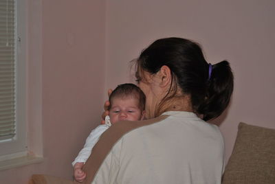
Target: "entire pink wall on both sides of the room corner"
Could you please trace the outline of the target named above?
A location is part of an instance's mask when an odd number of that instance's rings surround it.
[[[31,174],[38,173],[71,179],[70,162],[100,120],[106,89],[132,81],[129,60],[157,38],[191,38],[203,45],[212,64],[223,59],[231,62],[235,91],[228,112],[218,119],[227,158],[239,122],[275,128],[274,1],[28,2],[32,16],[29,88],[41,91],[42,104],[38,115],[31,112],[29,130],[35,137],[37,127],[42,129],[45,161],[1,171],[1,183],[26,183]],[[42,5],[39,25],[32,22],[37,23],[33,17],[37,2]],[[36,26],[42,29],[41,65],[36,65],[39,54],[34,51],[39,45],[32,38],[37,36],[32,31]],[[37,67],[41,67],[41,84],[32,78],[39,75],[33,72]],[[33,91],[32,95],[39,98]],[[36,104],[33,100],[29,106]],[[39,119],[42,127],[36,126]]]

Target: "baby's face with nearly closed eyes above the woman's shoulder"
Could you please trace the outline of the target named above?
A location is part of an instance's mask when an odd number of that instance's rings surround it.
[[[134,97],[114,97],[111,104],[109,116],[112,124],[122,120],[138,121],[144,116],[139,101]]]

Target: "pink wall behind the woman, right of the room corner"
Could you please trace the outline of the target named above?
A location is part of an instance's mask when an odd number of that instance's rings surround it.
[[[275,1],[107,1],[105,89],[129,78],[129,60],[157,38],[180,36],[203,46],[208,62],[227,59],[235,77],[223,118],[226,158],[239,122],[275,128]]]

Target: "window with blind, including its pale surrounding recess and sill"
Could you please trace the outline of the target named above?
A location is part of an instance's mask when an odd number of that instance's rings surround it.
[[[0,0],[0,170],[43,161],[41,12],[42,1]]]

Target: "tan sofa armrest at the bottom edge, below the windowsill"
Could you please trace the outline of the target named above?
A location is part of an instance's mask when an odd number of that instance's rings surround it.
[[[61,179],[56,176],[49,176],[44,174],[34,174],[29,181],[29,184],[74,184],[74,181]]]

